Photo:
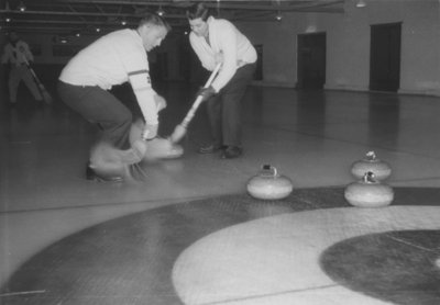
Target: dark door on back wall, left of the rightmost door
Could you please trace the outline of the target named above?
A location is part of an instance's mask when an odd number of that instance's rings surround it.
[[[326,33],[298,35],[298,89],[322,89],[326,83]]]

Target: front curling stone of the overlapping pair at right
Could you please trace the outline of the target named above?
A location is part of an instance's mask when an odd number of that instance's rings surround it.
[[[394,200],[393,189],[374,179],[373,172],[366,172],[362,180],[345,188],[345,200],[359,207],[381,207],[389,205]]]

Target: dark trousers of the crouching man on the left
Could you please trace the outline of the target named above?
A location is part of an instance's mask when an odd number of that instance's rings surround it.
[[[99,87],[73,86],[58,81],[63,102],[102,131],[102,140],[120,149],[130,148],[131,111],[113,94]]]

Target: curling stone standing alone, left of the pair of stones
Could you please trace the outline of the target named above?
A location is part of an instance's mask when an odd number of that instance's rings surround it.
[[[294,190],[290,179],[278,173],[276,168],[265,165],[258,174],[248,182],[251,196],[262,200],[279,200],[287,197]]]

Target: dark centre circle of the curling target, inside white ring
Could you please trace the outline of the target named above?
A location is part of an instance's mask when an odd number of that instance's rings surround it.
[[[399,230],[340,241],[321,256],[336,282],[393,304],[440,304],[440,230]]]

